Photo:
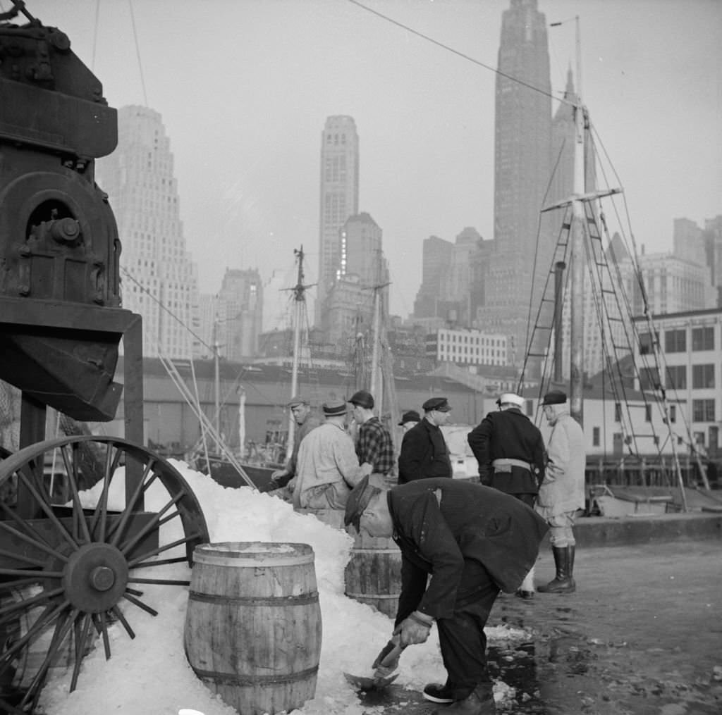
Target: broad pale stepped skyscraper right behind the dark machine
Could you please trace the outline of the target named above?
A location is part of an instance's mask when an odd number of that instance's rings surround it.
[[[143,353],[188,359],[198,327],[198,278],[160,114],[136,105],[118,110],[118,147],[96,170],[123,245],[123,307],[143,317]]]

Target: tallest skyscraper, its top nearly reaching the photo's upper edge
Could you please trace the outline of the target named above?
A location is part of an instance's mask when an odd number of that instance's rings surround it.
[[[521,364],[532,279],[536,305],[549,271],[552,241],[549,235],[540,237],[539,246],[549,254],[544,265],[536,240],[549,182],[552,100],[547,26],[536,0],[511,0],[504,11],[497,67],[495,250],[477,319],[485,330],[510,335],[512,354]]]

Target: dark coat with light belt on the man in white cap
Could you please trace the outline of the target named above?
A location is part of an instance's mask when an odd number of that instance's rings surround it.
[[[518,408],[490,412],[466,437],[479,462],[479,481],[507,494],[536,494],[544,478],[544,438]],[[532,470],[516,465],[497,470],[500,458],[528,462]]]

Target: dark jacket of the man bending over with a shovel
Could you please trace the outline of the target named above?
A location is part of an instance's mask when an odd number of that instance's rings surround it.
[[[451,618],[465,561],[481,563],[502,591],[515,592],[549,529],[515,497],[458,479],[412,481],[387,499],[401,549],[397,623],[414,610]]]

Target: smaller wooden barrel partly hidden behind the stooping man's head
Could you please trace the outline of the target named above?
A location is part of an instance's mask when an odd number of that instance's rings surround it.
[[[375,538],[362,529],[355,536],[346,566],[346,595],[394,618],[400,593],[399,547],[391,538]]]

